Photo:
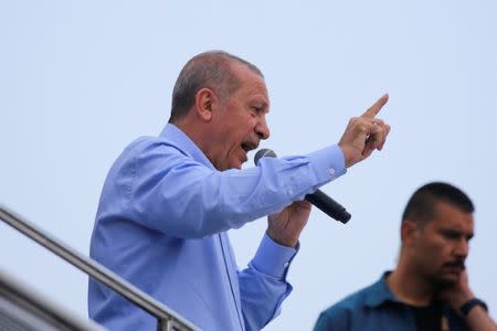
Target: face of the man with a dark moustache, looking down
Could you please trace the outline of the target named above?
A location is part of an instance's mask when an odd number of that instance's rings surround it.
[[[422,276],[437,287],[457,282],[473,237],[473,215],[456,206],[438,202],[435,217],[416,228],[413,244]]]

